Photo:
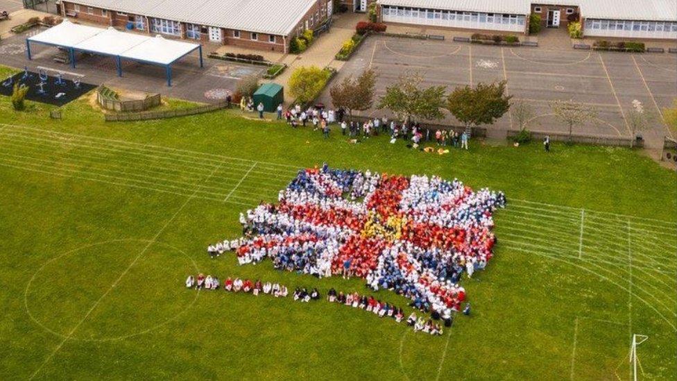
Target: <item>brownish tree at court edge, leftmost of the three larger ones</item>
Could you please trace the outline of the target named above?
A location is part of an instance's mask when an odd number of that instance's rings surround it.
[[[370,109],[374,103],[376,77],[375,71],[367,69],[357,78],[353,76],[343,78],[341,83],[329,90],[334,107],[347,110],[351,118],[354,110]]]

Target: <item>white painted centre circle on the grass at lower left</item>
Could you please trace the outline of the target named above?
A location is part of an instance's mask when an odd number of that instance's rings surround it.
[[[31,276],[31,279],[28,280],[28,284],[26,285],[26,289],[24,290],[24,307],[25,307],[25,309],[26,309],[26,314],[28,314],[28,317],[31,318],[31,320],[33,321],[33,323],[35,323],[35,324],[37,324],[38,326],[40,326],[40,328],[42,328],[42,329],[45,330],[46,332],[49,332],[49,333],[51,333],[52,335],[55,335],[55,336],[57,336],[57,337],[61,337],[62,339],[68,339],[68,340],[74,340],[74,341],[89,341],[89,342],[120,341],[120,340],[128,339],[128,338],[130,338],[130,337],[135,337],[135,336],[139,336],[139,335],[144,335],[144,334],[146,334],[146,333],[148,333],[148,332],[151,332],[151,331],[153,331],[153,330],[156,330],[157,328],[160,328],[160,327],[162,327],[163,325],[166,325],[166,324],[168,324],[168,323],[171,323],[172,321],[175,321],[175,320],[178,319],[180,316],[182,316],[183,314],[185,314],[188,310],[190,310],[191,307],[193,307],[193,305],[195,304],[195,302],[198,300],[198,296],[200,295],[200,290],[196,291],[195,297],[193,298],[193,300],[191,300],[191,303],[190,303],[184,310],[182,310],[182,311],[179,312],[178,314],[175,314],[175,315],[172,316],[171,318],[166,319],[166,320],[163,321],[162,323],[159,323],[159,324],[157,324],[157,325],[153,325],[152,327],[146,328],[145,330],[141,330],[141,331],[139,331],[139,332],[130,333],[129,335],[121,335],[121,336],[117,336],[117,337],[106,337],[106,338],[103,338],[103,339],[86,339],[86,338],[72,337],[72,336],[71,336],[71,337],[67,337],[66,335],[63,335],[62,333],[55,332],[54,330],[51,330],[50,328],[46,327],[46,325],[44,325],[43,323],[41,323],[40,321],[38,321],[38,320],[35,318],[35,316],[33,316],[33,314],[31,313],[31,309],[28,307],[28,291],[31,289],[31,285],[32,285],[32,283],[33,283],[33,280],[35,280],[35,277],[37,276],[38,273],[40,273],[40,271],[42,271],[48,264],[51,264],[51,263],[53,263],[53,262],[56,262],[57,260],[60,260],[62,257],[65,257],[66,255],[69,255],[69,254],[71,254],[71,253],[76,253],[77,251],[82,251],[82,250],[84,250],[85,248],[92,248],[92,247],[101,246],[101,245],[105,245],[105,244],[112,244],[112,243],[115,243],[115,242],[141,242],[141,243],[148,244],[149,242],[151,242],[151,240],[149,240],[149,239],[134,239],[134,238],[110,239],[110,240],[108,240],[108,241],[97,242],[97,243],[95,243],[95,244],[86,244],[86,245],[84,245],[84,246],[80,246],[80,247],[78,247],[78,248],[74,248],[74,249],[72,249],[72,250],[65,251],[65,252],[62,253],[61,255],[58,255],[58,256],[56,256],[56,257],[53,257],[51,260],[48,260],[47,262],[44,262],[44,264],[42,264],[42,266],[40,266],[40,268],[37,269],[37,270],[35,271],[35,273],[33,273],[33,276]],[[187,257],[187,258],[190,260],[190,262],[193,264],[193,266],[194,266],[194,268],[195,268],[195,271],[196,271],[197,273],[200,271],[200,270],[198,269],[198,264],[195,262],[195,260],[194,260],[193,258],[191,258],[189,255],[187,255],[187,253],[185,253],[185,251],[182,251],[182,250],[180,250],[180,249],[178,249],[178,248],[175,248],[174,246],[171,246],[171,245],[169,245],[169,244],[165,244],[165,243],[163,243],[163,242],[153,242],[153,244],[160,244],[161,246],[164,246],[164,247],[166,247],[166,248],[171,248],[173,251],[177,251],[178,253],[181,253],[182,255],[184,255],[185,257]]]

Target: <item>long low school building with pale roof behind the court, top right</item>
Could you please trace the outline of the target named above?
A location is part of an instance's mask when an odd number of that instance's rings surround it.
[[[565,28],[580,21],[583,35],[677,39],[676,0],[378,0],[379,19],[478,31],[529,33],[529,16]]]

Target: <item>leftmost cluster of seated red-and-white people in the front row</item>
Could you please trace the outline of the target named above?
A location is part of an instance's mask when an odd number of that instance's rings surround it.
[[[270,294],[275,298],[285,298],[289,295],[289,289],[285,285],[279,283],[266,282],[262,283],[260,280],[252,282],[249,279],[230,278],[223,281],[223,285],[219,282],[216,276],[211,276],[200,273],[197,277],[189,275],[186,278],[186,287],[189,289],[209,289],[216,290],[223,287],[224,291],[251,293],[254,296],[259,296],[260,293]]]

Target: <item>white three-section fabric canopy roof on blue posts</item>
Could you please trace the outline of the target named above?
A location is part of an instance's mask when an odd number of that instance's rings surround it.
[[[151,37],[124,33],[114,28],[83,26],[68,20],[26,40],[160,65],[169,65],[200,46],[167,40],[159,35]]]

